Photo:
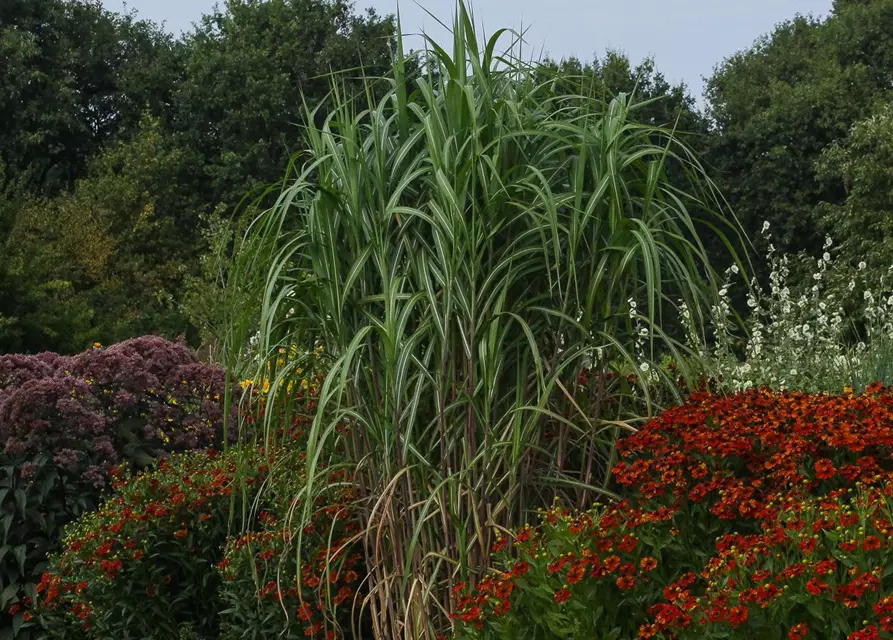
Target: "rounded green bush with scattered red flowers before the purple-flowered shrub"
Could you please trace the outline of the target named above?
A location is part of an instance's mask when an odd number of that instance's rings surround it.
[[[250,449],[178,454],[120,478],[116,497],[66,529],[37,586],[40,626],[62,639],[174,639],[188,624],[215,638],[215,565],[262,460]]]

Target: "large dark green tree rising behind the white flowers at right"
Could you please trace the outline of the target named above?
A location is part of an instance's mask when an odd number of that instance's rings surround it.
[[[891,81],[891,0],[839,0],[826,20],[785,22],[716,69],[707,83],[709,158],[748,235],[768,221],[781,250],[818,249],[818,205],[841,204],[847,193],[817,180],[816,162]]]

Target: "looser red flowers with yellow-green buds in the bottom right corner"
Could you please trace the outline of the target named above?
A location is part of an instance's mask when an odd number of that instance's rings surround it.
[[[893,558],[891,498],[893,478],[878,487],[785,499],[761,533],[720,538],[701,572],[698,597],[687,589],[664,593],[667,602],[659,606],[684,616],[657,620],[640,636],[723,637],[727,627],[741,624],[735,611],[746,620],[749,608],[769,610],[763,617],[770,619],[776,608],[787,611],[785,617],[809,617],[810,623],[791,627],[790,638],[808,637],[822,620],[872,622],[841,631],[852,640],[880,637],[878,629],[893,633],[893,596],[882,595],[881,580]],[[798,602],[805,606],[792,610]]]

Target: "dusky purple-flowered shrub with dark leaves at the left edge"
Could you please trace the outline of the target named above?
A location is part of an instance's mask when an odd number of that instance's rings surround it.
[[[234,439],[226,375],[189,349],[144,337],[73,357],[0,356],[0,628],[34,596],[62,527],[96,507],[118,464]]]

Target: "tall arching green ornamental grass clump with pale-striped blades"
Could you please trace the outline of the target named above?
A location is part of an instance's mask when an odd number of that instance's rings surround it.
[[[398,41],[362,101],[336,79],[308,107],[303,164],[240,257],[267,272],[262,366],[292,344],[326,354],[304,491],[332,451],[354,467],[379,638],[443,631],[445,594],[487,565],[496,528],[556,493],[608,491],[628,424],[568,389],[602,372],[598,400],[614,368],[650,381],[658,354],[685,363],[662,312],[681,298],[703,317],[717,288],[698,231],[732,229],[697,159],[638,123],[631,96],[556,95],[520,39],[479,40],[463,3],[451,51],[426,42],[420,70]]]

